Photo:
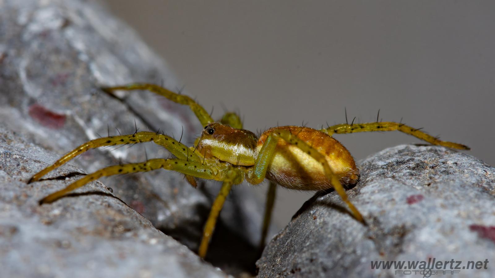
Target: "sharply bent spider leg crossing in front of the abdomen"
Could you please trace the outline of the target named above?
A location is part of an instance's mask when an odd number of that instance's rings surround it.
[[[338,176],[334,174],[332,168],[325,159],[325,156],[287,130],[275,129],[272,131],[272,133],[270,133],[270,135],[268,135],[265,142],[261,146],[252,170],[248,172],[248,181],[250,183],[259,184],[265,179],[268,165],[275,155],[275,147],[277,145],[278,139],[284,139],[286,142],[297,146],[300,150],[307,153],[316,161],[318,161],[323,166],[325,175],[332,184],[332,187],[335,189],[335,191],[337,191],[342,200],[347,204],[354,218],[362,223],[365,223],[361,213],[349,201],[346,189],[344,189],[344,186],[340,183]]]

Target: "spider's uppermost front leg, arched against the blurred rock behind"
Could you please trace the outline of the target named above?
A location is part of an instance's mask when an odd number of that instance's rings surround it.
[[[196,101],[194,101],[194,99],[192,99],[191,97],[184,94],[174,93],[170,90],[167,90],[157,85],[148,84],[148,83],[134,83],[124,86],[117,86],[117,87],[102,87],[101,90],[110,94],[113,94],[113,91],[117,91],[117,90],[122,90],[122,91],[146,90],[152,93],[162,95],[172,100],[173,102],[189,105],[189,107],[191,107],[191,110],[193,110],[193,112],[196,114],[196,117],[198,117],[198,120],[199,122],[201,122],[201,125],[203,127],[206,126],[208,123],[214,122],[213,119],[208,114],[208,112],[206,112],[206,110],[204,110],[204,108],[198,103],[196,103]]]

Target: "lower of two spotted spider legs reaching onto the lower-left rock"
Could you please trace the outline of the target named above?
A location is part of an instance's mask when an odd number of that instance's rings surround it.
[[[148,172],[156,169],[166,169],[177,171],[186,175],[195,176],[203,179],[213,179],[215,177],[215,171],[199,162],[186,161],[182,159],[149,159],[142,163],[130,163],[123,165],[113,165],[103,169],[100,169],[92,174],[84,176],[83,178],[73,182],[67,187],[49,194],[40,201],[40,204],[51,203],[70,191],[73,191],[89,182],[98,180],[101,177],[130,174],[137,172]]]

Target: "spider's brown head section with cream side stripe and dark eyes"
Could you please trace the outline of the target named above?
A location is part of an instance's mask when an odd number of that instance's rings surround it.
[[[198,149],[207,157],[215,157],[234,165],[250,166],[254,164],[257,141],[250,131],[210,123],[201,133]]]

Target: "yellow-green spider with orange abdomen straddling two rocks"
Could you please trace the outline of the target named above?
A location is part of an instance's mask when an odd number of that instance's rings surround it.
[[[49,167],[35,174],[28,183],[40,180],[50,171],[67,163],[77,155],[102,146],[134,144],[152,141],[169,150],[174,158],[149,159],[142,163],[130,163],[109,166],[73,182],[64,189],[49,194],[40,204],[53,202],[66,193],[95,181],[103,176],[148,172],[166,169],[185,174],[187,181],[197,186],[195,178],[223,182],[220,192],[213,202],[204,225],[198,255],[204,258],[213,234],[215,224],[225,199],[233,185],[246,180],[258,185],[268,179],[269,189],[260,246],[266,238],[271,211],[275,199],[276,185],[296,190],[325,190],[333,188],[347,204],[355,220],[366,225],[359,210],[350,202],[346,187],[355,185],[359,180],[359,171],[347,148],[332,137],[333,134],[346,134],[371,131],[400,131],[431,144],[456,149],[469,147],[432,137],[420,129],[414,129],[402,123],[376,122],[349,125],[339,124],[316,130],[300,126],[274,127],[259,137],[244,130],[240,117],[235,113],[226,113],[219,122],[215,122],[206,110],[191,97],[173,93],[157,85],[136,83],[118,87],[102,88],[106,93],[115,91],[150,91],[176,103],[189,105],[204,127],[195,145],[188,147],[167,135],[154,132],[136,132],[130,135],[110,136],[83,143],[66,153]]]

